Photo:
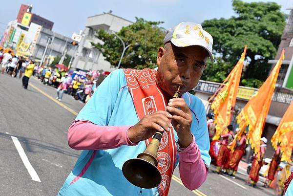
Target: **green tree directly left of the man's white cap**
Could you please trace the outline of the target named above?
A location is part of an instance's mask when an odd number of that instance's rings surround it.
[[[158,26],[162,23],[136,18],[135,23],[123,27],[117,33],[126,45],[130,44],[120,67],[142,69],[156,66],[157,51],[160,46],[163,46],[165,37],[164,29]],[[112,66],[117,66],[123,51],[121,41],[114,34],[107,33],[103,29],[96,32],[96,37],[102,40],[104,44],[91,43],[93,47],[100,50],[105,60]]]

